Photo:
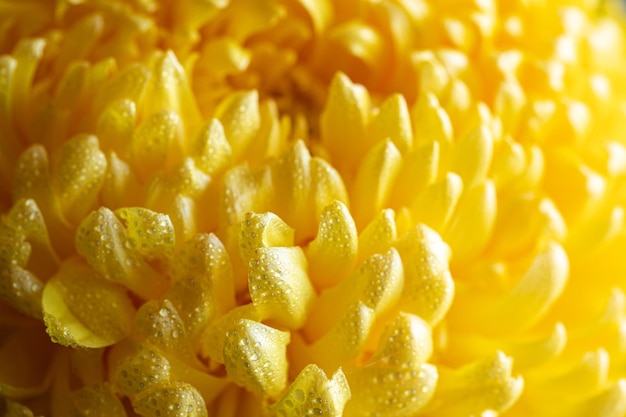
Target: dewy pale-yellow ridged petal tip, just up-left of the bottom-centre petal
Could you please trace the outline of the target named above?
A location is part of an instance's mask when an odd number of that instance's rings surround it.
[[[261,396],[275,396],[287,385],[289,333],[251,320],[234,323],[224,341],[224,364],[238,385]]]

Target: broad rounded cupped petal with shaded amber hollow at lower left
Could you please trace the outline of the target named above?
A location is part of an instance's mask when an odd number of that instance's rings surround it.
[[[119,342],[129,333],[135,314],[122,287],[76,261],[64,263],[46,283],[42,306],[52,341],[72,347]]]

